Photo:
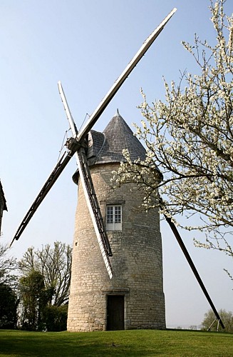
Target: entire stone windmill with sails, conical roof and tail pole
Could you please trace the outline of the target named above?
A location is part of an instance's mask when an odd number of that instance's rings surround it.
[[[112,171],[123,161],[122,150],[128,149],[132,160],[143,159],[145,150],[118,112],[103,134],[91,129],[175,11],[173,9],[145,40],[79,133],[61,82],[58,82],[73,136],[66,143],[68,151],[61,156],[33,201],[11,244],[19,239],[71,157],[76,156],[78,174],[74,175],[74,181],[78,184],[78,207],[68,308],[69,331],[165,328],[158,213],[138,211],[143,195],[133,190],[132,185],[124,185],[118,191],[110,188]],[[0,203],[1,213],[6,209],[6,202],[0,197]],[[177,228],[170,217],[165,215],[165,218],[224,328]]]

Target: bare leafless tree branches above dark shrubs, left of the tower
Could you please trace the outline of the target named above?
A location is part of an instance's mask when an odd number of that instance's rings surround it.
[[[68,302],[71,285],[72,248],[61,242],[55,242],[35,251],[28,248],[21,261],[19,269],[24,276],[32,271],[39,271],[43,277],[45,288],[51,288],[53,294],[50,303],[61,306]]]

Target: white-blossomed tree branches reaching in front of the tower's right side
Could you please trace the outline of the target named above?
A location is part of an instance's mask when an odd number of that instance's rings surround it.
[[[143,121],[136,129],[146,159],[132,162],[124,151],[126,162],[113,183],[137,183],[146,209],[160,206],[174,220],[197,217],[196,226],[184,224],[206,233],[207,241],[196,243],[232,256],[227,234],[233,227],[233,17],[224,14],[226,1],[210,1],[215,44],[197,35],[194,45],[183,42],[198,74],[182,74],[178,85],[165,81],[165,102],[149,105],[143,94]]]

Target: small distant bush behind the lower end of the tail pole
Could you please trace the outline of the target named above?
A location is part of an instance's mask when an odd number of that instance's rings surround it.
[[[219,310],[219,316],[224,323],[225,329],[224,331],[226,332],[233,332],[233,313],[232,311],[226,311],[224,309]],[[218,321],[216,320],[216,317],[214,315],[214,312],[212,310],[207,311],[207,313],[204,314],[204,320],[202,321],[202,329],[203,330],[209,330],[209,331],[217,331],[217,328],[219,331],[222,331],[222,326],[218,326]]]

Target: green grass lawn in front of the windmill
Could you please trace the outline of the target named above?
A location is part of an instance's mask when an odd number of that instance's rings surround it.
[[[177,330],[89,333],[0,330],[0,357],[3,356],[228,357],[233,356],[233,335]]]

